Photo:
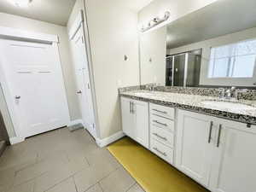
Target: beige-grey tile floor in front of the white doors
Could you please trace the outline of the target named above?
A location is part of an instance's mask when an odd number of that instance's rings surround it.
[[[26,139],[0,158],[0,192],[143,192],[87,131],[67,128]]]

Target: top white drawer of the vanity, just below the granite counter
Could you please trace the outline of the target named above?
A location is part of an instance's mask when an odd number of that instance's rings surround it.
[[[150,103],[149,110],[150,114],[156,114],[165,118],[174,119],[174,108]]]

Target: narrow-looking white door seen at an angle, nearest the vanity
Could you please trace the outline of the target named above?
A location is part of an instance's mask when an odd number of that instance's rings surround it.
[[[80,26],[72,40],[79,105],[84,127],[96,137],[95,116],[90,88],[90,72],[84,45],[84,31]]]

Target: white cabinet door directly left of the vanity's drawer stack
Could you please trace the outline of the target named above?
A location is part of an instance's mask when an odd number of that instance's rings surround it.
[[[149,148],[148,102],[133,101],[133,113],[136,116],[134,139],[145,148]]]

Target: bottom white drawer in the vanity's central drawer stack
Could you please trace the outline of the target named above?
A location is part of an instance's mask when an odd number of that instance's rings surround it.
[[[154,154],[157,154],[163,160],[166,160],[170,164],[173,162],[173,149],[167,147],[166,145],[152,139],[150,144],[150,149]]]

